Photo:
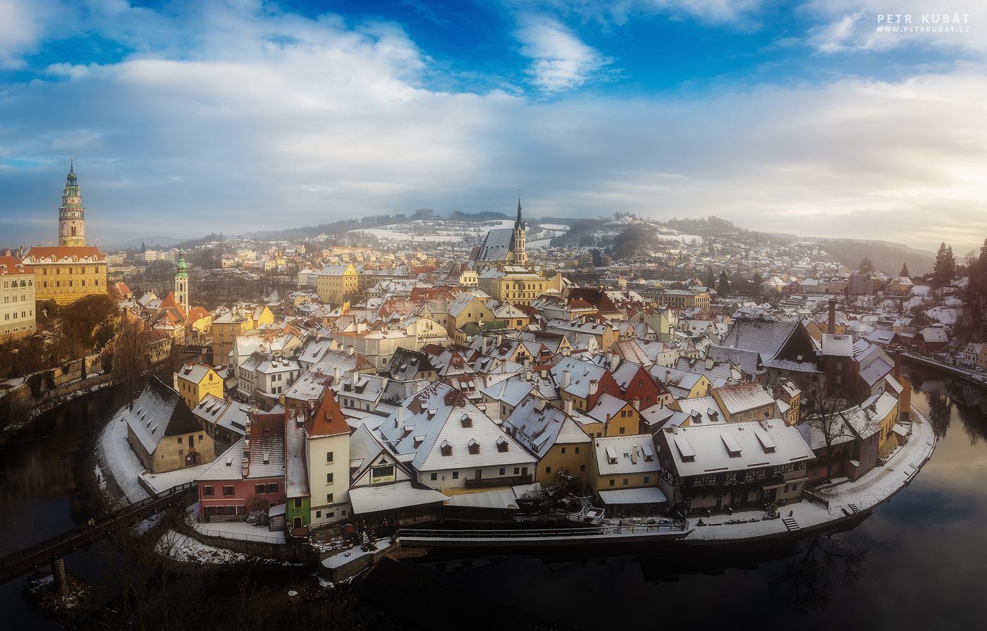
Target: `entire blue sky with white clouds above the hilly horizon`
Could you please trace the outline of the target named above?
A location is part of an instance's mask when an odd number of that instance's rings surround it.
[[[0,246],[53,240],[74,152],[100,244],[520,189],[963,253],[985,51],[952,0],[0,0]]]

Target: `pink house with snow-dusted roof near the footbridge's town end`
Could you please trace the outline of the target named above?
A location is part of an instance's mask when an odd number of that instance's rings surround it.
[[[284,414],[254,415],[247,434],[196,484],[199,515],[210,520],[245,520],[251,511],[284,504]]]

